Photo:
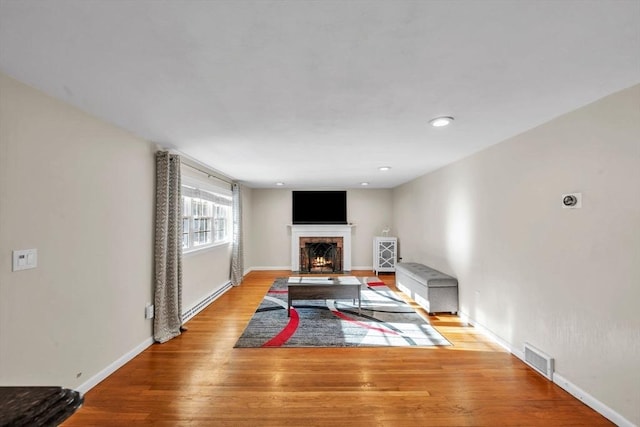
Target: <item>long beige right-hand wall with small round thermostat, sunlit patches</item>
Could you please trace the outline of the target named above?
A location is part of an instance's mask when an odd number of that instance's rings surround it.
[[[463,314],[640,425],[639,183],[635,86],[396,188],[394,228]]]

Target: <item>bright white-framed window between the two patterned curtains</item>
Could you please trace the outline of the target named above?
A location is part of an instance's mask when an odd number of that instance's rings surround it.
[[[231,197],[182,186],[182,249],[185,252],[230,241]]]

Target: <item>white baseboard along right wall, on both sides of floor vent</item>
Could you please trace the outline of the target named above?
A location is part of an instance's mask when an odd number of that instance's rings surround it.
[[[458,315],[463,322],[472,325],[474,328],[479,330],[487,338],[491,339],[496,344],[498,344],[499,346],[501,346],[502,348],[504,348],[505,350],[507,350],[514,356],[516,356],[518,359],[522,360],[522,363],[525,363],[523,351],[511,347],[511,344],[504,341],[502,338],[500,338],[499,336],[491,332],[482,324],[471,319],[466,313],[460,312]],[[575,397],[576,399],[578,399],[579,401],[581,401],[582,403],[584,403],[585,405],[587,405],[588,407],[590,407],[591,409],[593,409],[594,411],[602,415],[603,417],[607,418],[609,421],[613,422],[617,426],[637,427],[631,421],[627,420],[625,417],[623,417],[622,415],[620,415],[619,413],[617,413],[616,411],[614,411],[613,409],[611,409],[610,407],[608,407],[607,405],[605,405],[604,403],[602,403],[601,401],[599,401],[598,399],[596,399],[595,397],[587,393],[586,391],[582,390],[580,387],[573,384],[571,381],[569,381],[568,379],[566,379],[565,377],[563,377],[557,372],[553,373],[553,382],[558,387],[565,390],[567,393],[569,393],[570,395],[572,395],[573,397]]]

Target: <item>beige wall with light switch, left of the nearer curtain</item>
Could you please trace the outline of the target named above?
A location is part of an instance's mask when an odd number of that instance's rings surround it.
[[[0,384],[76,388],[151,336],[153,151],[0,74]]]

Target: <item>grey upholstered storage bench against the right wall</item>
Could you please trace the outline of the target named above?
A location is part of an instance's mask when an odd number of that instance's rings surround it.
[[[427,313],[458,313],[458,279],[417,262],[396,265],[396,287]]]

